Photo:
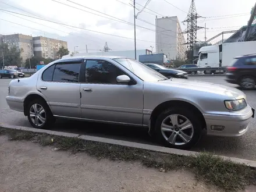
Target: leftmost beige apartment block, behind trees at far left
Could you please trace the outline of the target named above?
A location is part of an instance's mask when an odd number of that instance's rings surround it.
[[[23,63],[34,55],[33,38],[30,35],[2,35],[2,42],[8,44],[8,47],[16,46],[20,49]]]

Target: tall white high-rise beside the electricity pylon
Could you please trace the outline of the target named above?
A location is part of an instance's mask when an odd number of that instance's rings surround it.
[[[156,18],[155,27],[157,53],[167,55],[168,59],[185,59],[186,41],[177,16]]]

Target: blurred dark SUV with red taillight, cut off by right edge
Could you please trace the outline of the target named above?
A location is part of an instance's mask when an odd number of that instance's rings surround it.
[[[226,81],[251,90],[256,84],[256,54],[237,56],[227,67]]]

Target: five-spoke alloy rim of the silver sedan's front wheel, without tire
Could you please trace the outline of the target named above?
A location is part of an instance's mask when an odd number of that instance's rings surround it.
[[[183,115],[172,114],[162,121],[162,136],[173,145],[184,145],[194,136],[194,127],[189,119]]]

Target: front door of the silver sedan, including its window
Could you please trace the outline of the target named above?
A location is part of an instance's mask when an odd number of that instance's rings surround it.
[[[104,60],[87,60],[84,74],[80,90],[82,118],[142,125],[142,83],[136,83],[131,76],[129,84],[118,83],[116,77],[127,73]]]

